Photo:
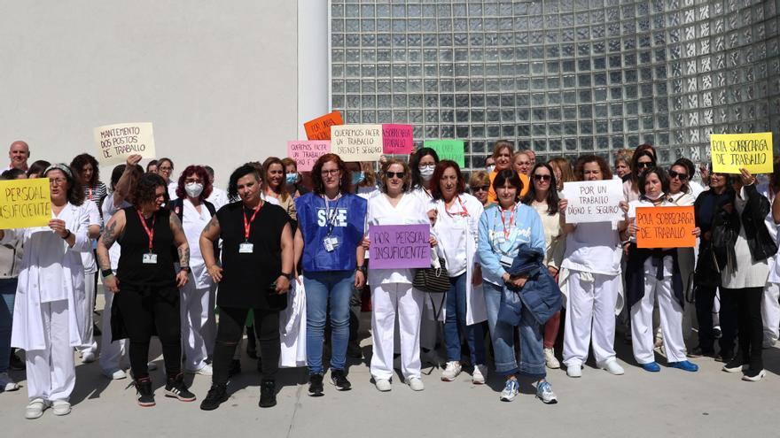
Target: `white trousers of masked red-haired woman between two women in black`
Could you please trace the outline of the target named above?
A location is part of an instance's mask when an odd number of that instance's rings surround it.
[[[180,291],[184,369],[197,371],[214,352],[216,287],[197,288],[195,281],[190,280]]]

